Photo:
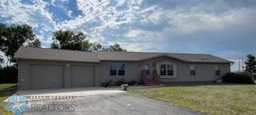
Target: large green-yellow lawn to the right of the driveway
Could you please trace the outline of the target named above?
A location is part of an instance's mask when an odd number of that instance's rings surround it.
[[[256,85],[187,85],[130,92],[210,115],[256,113]]]

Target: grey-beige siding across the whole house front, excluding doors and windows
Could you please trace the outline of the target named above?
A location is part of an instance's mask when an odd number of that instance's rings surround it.
[[[152,77],[152,70],[162,62],[168,61],[175,65],[174,76],[161,78],[160,81],[215,81],[220,76],[230,72],[229,63],[186,63],[171,59],[169,57],[158,57],[148,61],[102,61],[99,63],[89,62],[70,62],[70,61],[26,61],[18,60],[18,88],[30,89],[30,65],[42,64],[42,65],[61,65],[63,66],[63,85],[64,88],[70,88],[72,86],[72,67],[73,66],[90,66],[94,68],[94,85],[101,85],[103,81],[118,79],[125,79],[126,81],[140,80],[141,70],[144,64],[150,65],[150,76]],[[110,63],[122,63],[125,64],[124,76],[110,76]],[[190,76],[190,65],[196,65],[196,75]],[[215,76],[214,65],[220,66],[220,76]]]

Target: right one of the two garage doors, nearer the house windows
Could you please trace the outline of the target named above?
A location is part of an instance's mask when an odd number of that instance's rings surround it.
[[[94,67],[72,66],[71,68],[71,87],[94,85]]]

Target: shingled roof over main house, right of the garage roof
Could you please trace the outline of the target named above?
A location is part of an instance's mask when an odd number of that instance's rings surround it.
[[[142,61],[154,57],[170,57],[186,62],[219,62],[230,63],[221,57],[210,54],[170,54],[170,53],[143,53],[143,52],[100,52],[99,60],[104,61]],[[203,57],[203,59],[202,59]]]

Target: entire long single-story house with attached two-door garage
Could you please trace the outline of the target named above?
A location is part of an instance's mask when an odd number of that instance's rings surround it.
[[[210,54],[98,52],[20,47],[19,89],[54,89],[101,85],[109,80],[159,82],[216,81],[230,63]]]

